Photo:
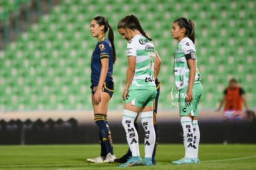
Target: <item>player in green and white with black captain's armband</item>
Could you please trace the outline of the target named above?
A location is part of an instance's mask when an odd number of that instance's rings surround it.
[[[197,124],[198,102],[202,95],[197,69],[194,22],[186,18],[174,20],[171,35],[178,41],[174,56],[174,80],[179,90],[179,115],[183,129],[185,156],[173,164],[199,163],[200,132]]]

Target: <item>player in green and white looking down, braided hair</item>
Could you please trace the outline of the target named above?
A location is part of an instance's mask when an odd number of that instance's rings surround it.
[[[127,43],[128,69],[126,85],[122,98],[124,113],[122,125],[126,130],[126,139],[132,157],[121,167],[146,165],[151,166],[151,157],[155,146],[155,130],[153,127],[153,100],[156,97],[154,80],[155,46],[151,42],[139,20],[134,15],[127,15],[120,20],[118,31]],[[118,26],[117,26],[118,27]],[[145,158],[140,158],[139,137],[134,121],[140,113],[145,130]]]

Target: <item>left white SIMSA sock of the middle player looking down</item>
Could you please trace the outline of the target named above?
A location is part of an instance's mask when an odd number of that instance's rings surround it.
[[[132,156],[140,156],[138,132],[134,127],[134,120],[137,115],[138,113],[127,109],[124,109],[124,114],[122,115],[122,126],[126,130],[126,140],[130,151],[132,151]]]

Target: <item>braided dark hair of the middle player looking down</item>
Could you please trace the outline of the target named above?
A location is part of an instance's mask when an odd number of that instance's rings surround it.
[[[139,32],[152,41],[152,39],[144,32],[142,25],[135,15],[127,15],[124,19],[121,19],[117,24],[117,28],[129,28],[130,30],[139,30]]]

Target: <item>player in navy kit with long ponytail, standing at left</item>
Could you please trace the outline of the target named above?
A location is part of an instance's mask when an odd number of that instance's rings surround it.
[[[108,38],[105,37],[108,32]],[[94,121],[100,129],[101,154],[98,158],[87,159],[91,163],[112,163],[116,156],[113,152],[111,131],[108,126],[108,103],[114,92],[112,78],[113,64],[116,61],[114,33],[105,17],[95,17],[91,22],[92,36],[98,43],[92,54],[91,89]]]

